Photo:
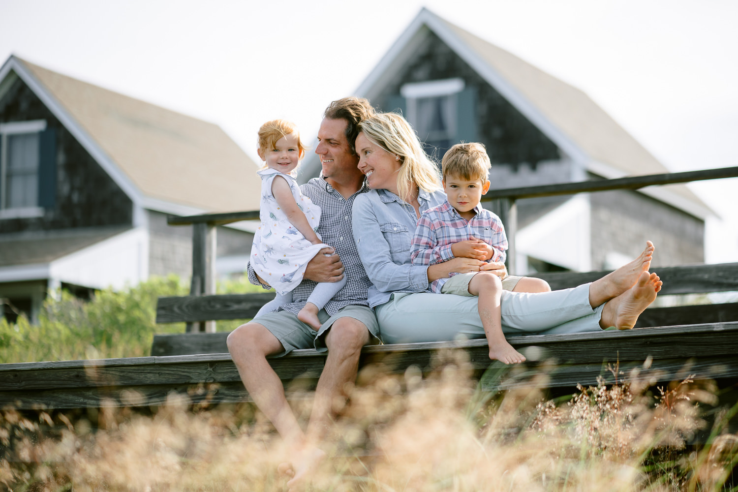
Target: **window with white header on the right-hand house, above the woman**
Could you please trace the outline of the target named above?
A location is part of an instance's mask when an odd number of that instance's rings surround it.
[[[461,78],[406,83],[400,89],[405,116],[426,151],[439,158],[459,141],[459,94],[464,90]]]

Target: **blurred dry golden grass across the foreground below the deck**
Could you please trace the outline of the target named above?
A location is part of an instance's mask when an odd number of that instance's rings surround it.
[[[448,360],[446,360],[448,362]],[[580,388],[568,401],[538,389],[481,392],[456,364],[426,378],[367,367],[337,401],[315,474],[319,491],[718,491],[737,462],[722,426],[685,451],[714,388],[689,378],[649,395],[627,382]],[[294,401],[308,415],[309,398]],[[278,491],[287,450],[248,404],[193,409],[172,395],[151,415],[104,407],[99,429],[60,414],[7,410],[0,483],[17,491]],[[66,423],[64,423],[66,420]],[[34,442],[39,424],[60,424]],[[22,436],[22,437],[18,437]]]

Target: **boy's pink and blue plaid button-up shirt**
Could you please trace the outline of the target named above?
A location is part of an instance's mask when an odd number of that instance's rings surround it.
[[[477,204],[474,211],[477,215],[468,222],[448,201],[423,212],[418,219],[415,237],[410,247],[413,265],[435,265],[450,260],[454,257],[451,245],[471,239],[472,236],[492,246],[494,252],[488,262],[505,261],[508,243],[502,221],[481,204]],[[455,273],[449,277],[453,275]],[[440,293],[446,280],[448,278],[434,280],[429,285],[428,291]]]

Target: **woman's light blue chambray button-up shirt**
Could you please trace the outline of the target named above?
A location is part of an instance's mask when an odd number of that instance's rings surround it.
[[[446,201],[443,191],[418,195],[421,213]],[[384,304],[393,292],[423,292],[428,266],[410,262],[410,240],[418,218],[412,205],[387,190],[370,190],[354,202],[354,238],[372,285],[369,305]]]

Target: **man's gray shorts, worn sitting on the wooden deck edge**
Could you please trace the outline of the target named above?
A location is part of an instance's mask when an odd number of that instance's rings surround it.
[[[328,316],[325,309],[321,309],[318,311],[318,319],[323,323],[320,326],[320,331],[315,331],[310,325],[301,322],[297,319],[296,314],[289,311],[264,313],[252,321],[262,325],[277,337],[284,350],[272,355],[272,357],[282,357],[292,352],[292,350],[305,348],[314,348],[318,352],[325,352],[325,350],[328,350],[325,347],[325,332],[331,328],[337,319],[343,317],[354,318],[364,323],[372,338],[370,344],[379,343],[379,324],[376,322],[373,309],[367,306],[348,305],[341,308],[333,316]]]

